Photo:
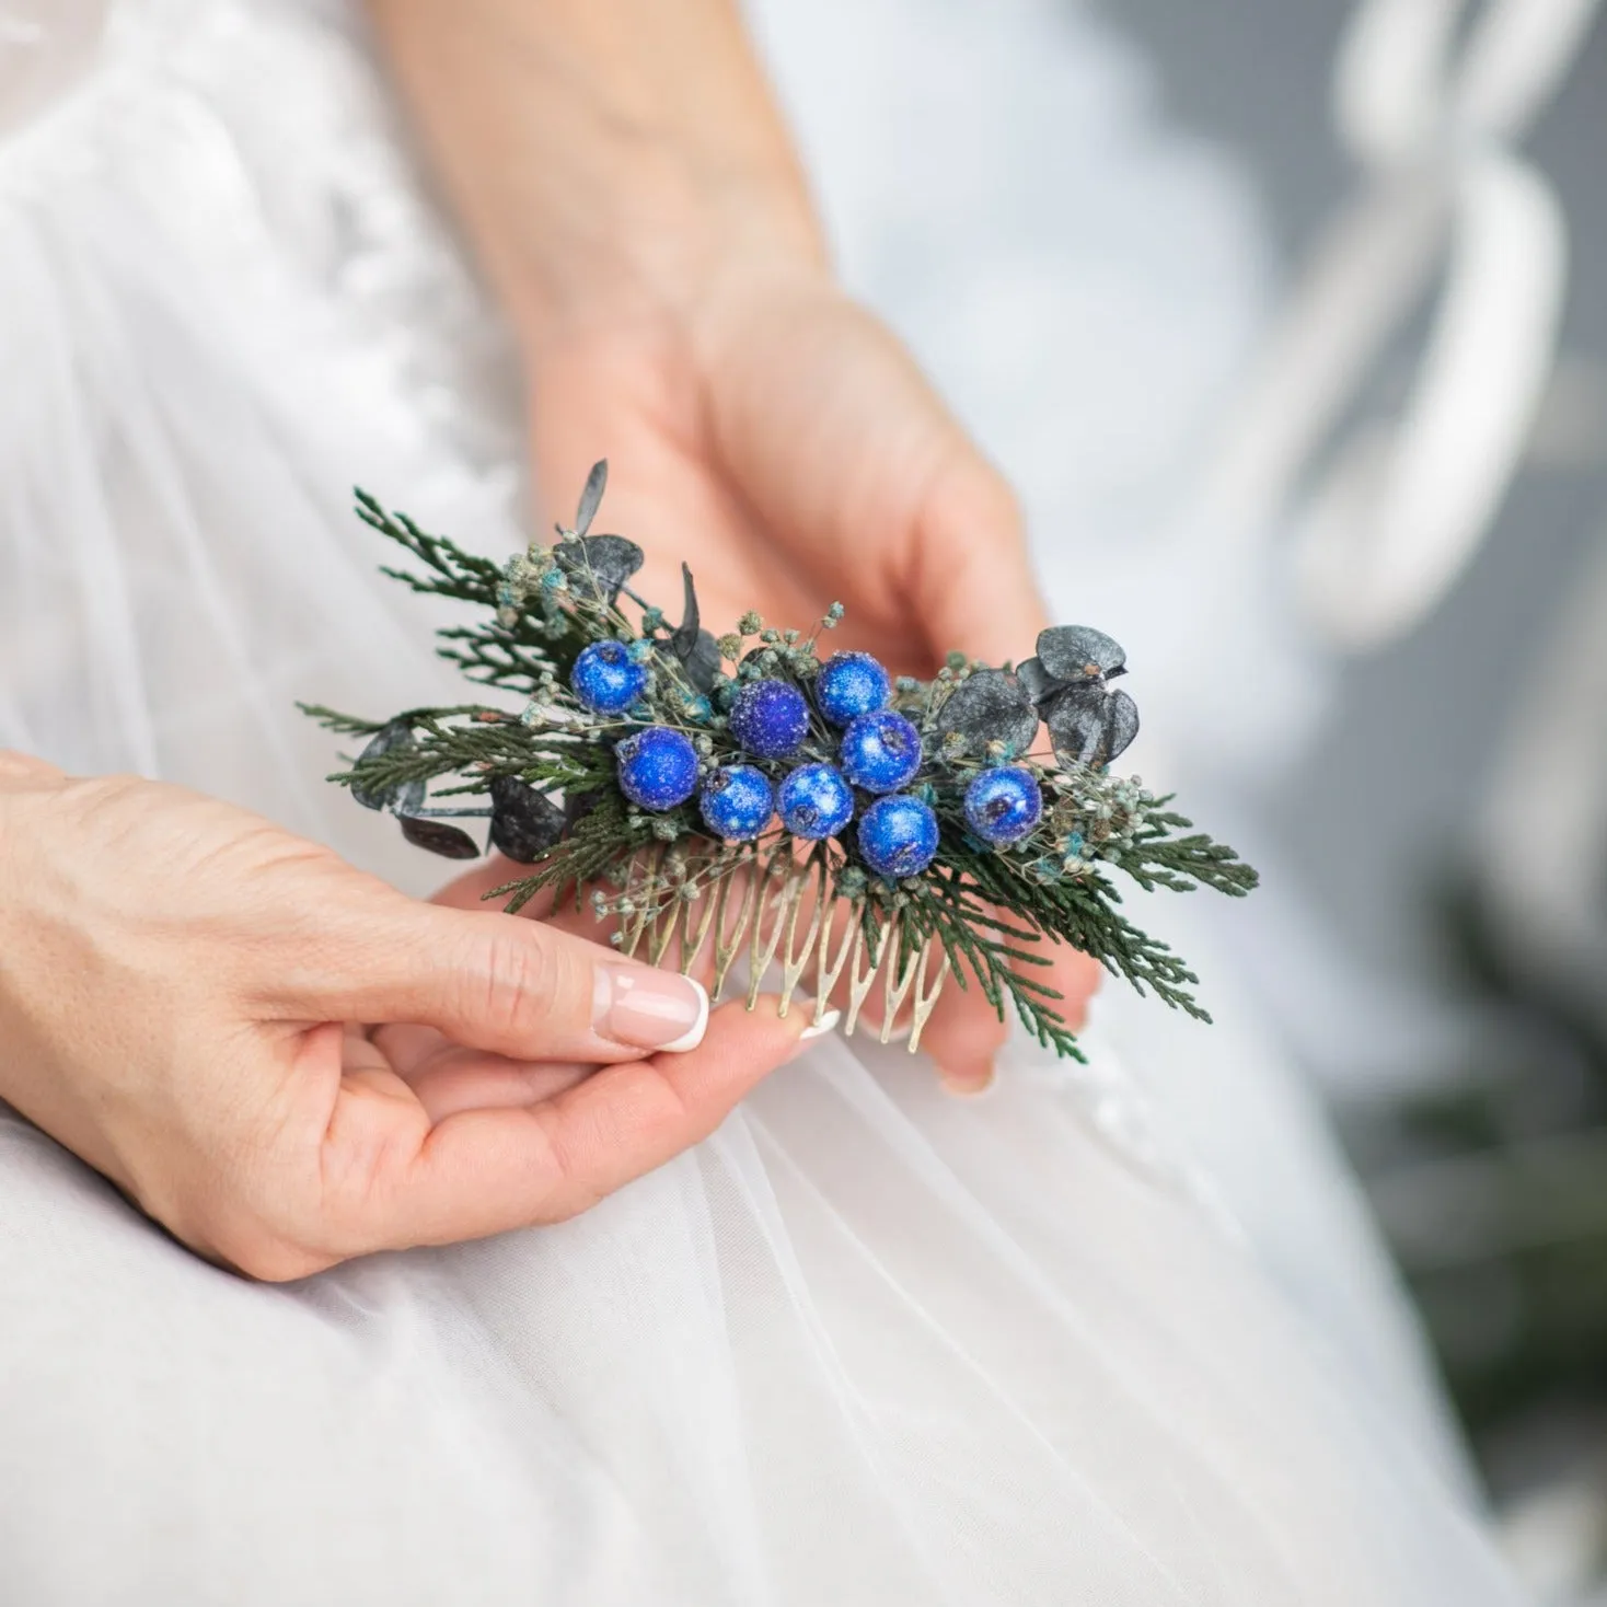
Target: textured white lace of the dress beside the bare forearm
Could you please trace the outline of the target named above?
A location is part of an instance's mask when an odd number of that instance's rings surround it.
[[[297,87],[296,117],[284,116],[286,84]],[[24,119],[31,127],[5,143]],[[456,503],[468,472],[490,482],[485,513],[513,517],[521,442],[508,342],[337,10],[5,6],[0,198],[37,199],[74,178],[130,186],[196,265],[257,302],[259,328],[321,325],[366,405],[434,437],[437,490]]]

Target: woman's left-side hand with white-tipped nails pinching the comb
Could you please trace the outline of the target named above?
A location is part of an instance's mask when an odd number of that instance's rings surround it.
[[[178,787],[0,754],[0,1098],[252,1276],[570,1216],[805,1028]]]

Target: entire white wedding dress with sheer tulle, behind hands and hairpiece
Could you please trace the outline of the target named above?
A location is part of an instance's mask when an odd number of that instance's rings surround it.
[[[455,696],[347,489],[511,550],[506,357],[349,16],[103,11],[0,5],[0,744],[423,889],[292,701]],[[1252,202],[1073,6],[757,22],[850,278],[1093,615],[1261,309]],[[1197,950],[1186,913],[1144,916]],[[969,1102],[828,1040],[579,1221],[292,1287],[0,1107],[0,1601],[1515,1601],[1342,1170],[1205,971],[1208,1032],[1112,990],[1090,1069],[1016,1049]]]

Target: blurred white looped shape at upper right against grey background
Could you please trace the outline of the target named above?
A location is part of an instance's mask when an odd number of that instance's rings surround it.
[[[1360,651],[1450,590],[1501,506],[1556,358],[1567,230],[1519,141],[1581,47],[1597,0],[1363,0],[1335,119],[1360,167],[1268,341],[1210,480],[1229,542],[1294,538],[1297,606]],[[1459,42],[1461,37],[1461,42]],[[1393,418],[1347,427],[1440,280]]]

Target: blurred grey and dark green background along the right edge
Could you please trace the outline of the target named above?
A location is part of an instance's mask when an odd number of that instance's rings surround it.
[[[1106,6],[1149,53],[1168,114],[1252,175],[1286,289],[1376,182],[1334,116],[1355,10]],[[1453,59],[1478,13],[1459,18]],[[1286,1030],[1422,1306],[1509,1543],[1544,1599],[1607,1601],[1599,19],[1581,24],[1512,148],[1556,196],[1567,236],[1554,365],[1520,461],[1443,587],[1376,640],[1337,644],[1319,723],[1258,804],[1282,873],[1374,1006],[1366,1025],[1286,1011]],[[1445,276],[1411,297],[1353,411],[1401,408]]]

